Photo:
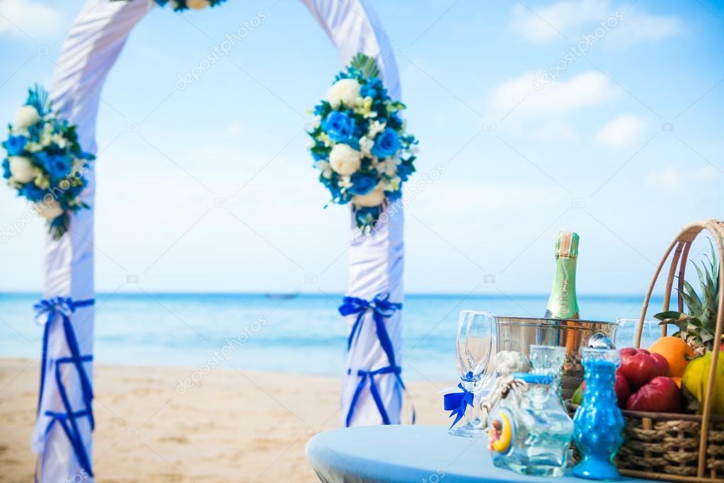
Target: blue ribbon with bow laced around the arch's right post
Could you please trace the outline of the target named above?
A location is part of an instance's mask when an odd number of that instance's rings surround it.
[[[352,400],[350,401],[350,408],[347,413],[347,419],[345,421],[347,427],[349,427],[352,422],[352,418],[355,412],[355,406],[357,406],[357,400],[359,399],[359,396],[361,395],[362,391],[364,390],[365,384],[368,381],[369,392],[372,395],[372,399],[377,406],[379,415],[382,416],[382,424],[390,424],[390,416],[387,415],[387,409],[384,407],[384,403],[382,403],[382,397],[379,395],[379,390],[377,389],[377,385],[374,379],[375,376],[379,376],[382,374],[394,374],[395,379],[397,380],[397,384],[400,385],[403,392],[407,392],[405,384],[403,383],[403,379],[400,376],[402,368],[397,365],[395,359],[395,348],[392,345],[392,340],[390,339],[390,335],[387,333],[387,327],[384,323],[384,319],[391,317],[392,314],[395,313],[395,311],[400,310],[401,308],[403,308],[403,304],[390,302],[390,294],[386,292],[375,295],[372,301],[366,301],[365,299],[358,297],[345,297],[342,299],[342,305],[340,305],[339,308],[340,314],[342,314],[343,316],[357,314],[357,319],[355,319],[355,323],[353,324],[352,330],[350,331],[350,337],[347,340],[347,349],[350,350],[353,343],[355,343],[355,341],[359,337],[364,314],[366,314],[367,311],[372,311],[372,320],[374,320],[377,338],[379,339],[379,345],[380,347],[382,347],[382,350],[384,350],[385,355],[387,355],[387,362],[389,364],[388,366],[384,366],[380,369],[375,369],[374,371],[366,371],[363,369],[357,371],[357,376],[360,378],[360,381],[357,385],[357,389],[355,390]],[[352,374],[352,369],[348,369],[347,374]],[[415,417],[415,409],[413,408],[413,424],[415,424]]]

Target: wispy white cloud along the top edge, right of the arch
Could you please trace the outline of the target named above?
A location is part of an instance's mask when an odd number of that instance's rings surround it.
[[[510,25],[534,42],[561,40],[566,35],[578,43],[582,35],[601,31],[602,37],[610,36],[611,41],[622,45],[660,41],[683,30],[678,17],[650,14],[623,4],[613,6],[608,0],[563,0],[534,9],[516,5]]]

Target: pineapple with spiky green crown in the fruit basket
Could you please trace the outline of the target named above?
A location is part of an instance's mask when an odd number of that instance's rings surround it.
[[[674,337],[681,337],[691,348],[696,356],[703,355],[707,350],[714,347],[714,336],[716,331],[717,312],[719,307],[719,264],[714,251],[714,245],[709,240],[712,250],[709,266],[702,261],[702,269],[692,263],[699,275],[699,284],[702,286],[702,298],[696,294],[694,287],[684,280],[681,296],[689,308],[689,314],[682,314],[677,311],[666,311],[654,315],[659,319],[660,325],[675,324],[679,330]],[[708,257],[707,257],[708,258]]]

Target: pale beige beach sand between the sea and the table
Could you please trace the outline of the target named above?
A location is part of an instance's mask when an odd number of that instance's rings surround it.
[[[214,369],[95,368],[93,467],[98,482],[314,482],[304,445],[340,426],[340,380]],[[0,359],[0,482],[31,482],[39,364]],[[445,424],[447,386],[411,382],[420,424]]]

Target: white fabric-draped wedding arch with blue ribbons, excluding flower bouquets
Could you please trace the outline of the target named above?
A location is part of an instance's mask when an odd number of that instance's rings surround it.
[[[366,0],[301,0],[337,47],[342,63],[374,57],[390,97],[400,99],[392,46]],[[159,2],[164,3],[164,2]],[[195,2],[198,3],[198,2]],[[212,2],[213,3],[213,2]],[[150,9],[146,0],[88,0],[64,41],[50,91],[58,117],[77,125],[80,145],[96,154],[100,93],[132,28]],[[220,9],[224,8],[219,7]],[[41,482],[93,479],[93,204],[95,172],[60,238],[48,235],[43,300],[45,325],[38,419],[33,450]],[[348,317],[350,347],[342,383],[342,424],[398,424],[404,386],[395,358],[402,342],[403,209],[387,206],[375,229],[362,234],[350,219]]]

